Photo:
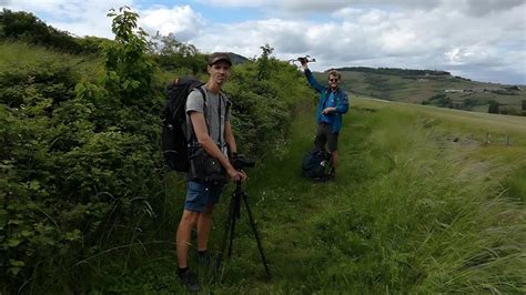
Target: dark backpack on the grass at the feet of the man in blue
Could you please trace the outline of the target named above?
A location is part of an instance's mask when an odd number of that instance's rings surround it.
[[[331,153],[324,150],[305,153],[302,161],[302,175],[315,181],[330,180],[334,175]]]

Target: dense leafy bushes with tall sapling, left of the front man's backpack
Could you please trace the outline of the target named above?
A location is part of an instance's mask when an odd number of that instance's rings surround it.
[[[133,242],[154,216],[161,99],[144,42],[131,33],[134,16],[114,27],[129,31],[108,49],[101,82],[80,82],[58,61],[0,73],[1,281],[9,292],[51,277],[60,292],[79,292],[72,266]]]

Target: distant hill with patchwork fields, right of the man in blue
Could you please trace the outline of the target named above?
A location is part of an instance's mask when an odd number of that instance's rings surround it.
[[[346,91],[376,99],[428,104],[475,112],[526,115],[526,90],[454,77],[446,71],[345,67],[341,85]],[[318,81],[324,73],[315,73]]]

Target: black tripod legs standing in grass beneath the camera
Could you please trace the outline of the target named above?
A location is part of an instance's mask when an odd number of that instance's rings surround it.
[[[224,251],[226,248],[226,241],[229,240],[229,236],[230,236],[229,257],[232,255],[232,242],[234,241],[235,221],[240,218],[241,199],[243,199],[243,202],[245,203],[246,212],[249,213],[250,225],[252,227],[252,232],[254,233],[255,241],[257,242],[257,250],[260,251],[261,260],[263,262],[263,266],[265,267],[266,276],[270,278],[271,271],[269,269],[269,266],[266,265],[266,260],[265,260],[265,255],[263,254],[263,246],[261,245],[260,235],[257,233],[257,228],[255,227],[254,218],[252,217],[252,211],[250,210],[250,206],[249,206],[249,200],[247,200],[249,196],[241,190],[241,181],[236,182],[235,190],[234,192],[232,192],[232,199],[230,200],[229,217],[226,218],[224,238],[223,238],[223,244],[221,247],[221,254],[219,257],[218,266],[221,265],[221,260],[224,256]]]

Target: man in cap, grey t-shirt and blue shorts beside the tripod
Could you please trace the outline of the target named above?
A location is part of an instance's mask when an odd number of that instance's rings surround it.
[[[226,175],[233,181],[244,181],[246,174],[235,170],[229,161],[229,151],[237,146],[230,122],[230,101],[222,87],[231,74],[232,61],[227,53],[215,52],[209,57],[209,80],[202,90],[193,90],[186,100],[190,170],[186,201],[176,232],[179,277],[190,291],[199,291],[195,273],[189,269],[188,254],[192,228],[198,230],[200,262],[210,260],[208,240],[212,227],[212,212],[219,202]],[[204,96],[203,96],[204,94]]]

